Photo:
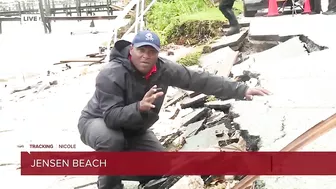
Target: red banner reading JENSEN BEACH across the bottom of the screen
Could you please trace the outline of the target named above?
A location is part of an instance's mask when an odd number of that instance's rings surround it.
[[[22,175],[336,175],[335,152],[21,152]]]

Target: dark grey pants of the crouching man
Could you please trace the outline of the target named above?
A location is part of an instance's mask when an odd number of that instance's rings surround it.
[[[160,141],[152,131],[138,135],[124,135],[122,131],[112,130],[106,127],[103,119],[80,118],[78,129],[81,140],[96,151],[165,151]],[[120,185],[121,180],[133,180],[146,183],[158,176],[99,176],[99,189],[112,189]]]

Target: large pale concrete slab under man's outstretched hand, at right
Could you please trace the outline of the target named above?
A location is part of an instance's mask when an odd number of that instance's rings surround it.
[[[273,95],[254,98],[251,102],[236,101],[233,111],[240,114],[235,121],[241,129],[260,135],[261,151],[282,149],[312,125],[335,113],[332,98],[335,90],[330,88],[333,86],[331,70],[335,70],[335,64],[330,61],[334,51],[323,50],[308,55],[303,45],[295,37],[268,52],[260,53],[261,57],[258,54],[252,56],[256,61],[251,65],[253,70],[260,73],[261,86],[269,89]],[[312,86],[314,90],[309,90]],[[335,134],[332,131],[321,137],[320,142],[315,141],[303,150],[334,151],[334,145],[328,144],[328,140],[335,138]],[[265,176],[261,179],[265,181],[265,188],[300,189],[332,188],[335,181],[333,177],[299,176]]]

